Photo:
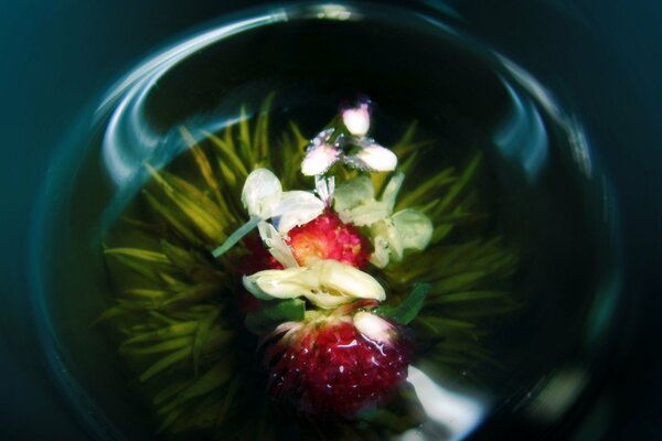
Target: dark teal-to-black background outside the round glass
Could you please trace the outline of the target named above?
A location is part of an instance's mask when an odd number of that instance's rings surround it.
[[[57,142],[132,65],[221,13],[269,2],[24,0],[0,2],[0,439],[86,439],[44,368],[25,272],[33,202]],[[412,2],[414,4],[414,2]],[[620,201],[627,312],[624,356],[591,398],[607,439],[662,431],[662,3],[650,0],[448,1],[472,31],[554,85],[575,85],[610,148]],[[434,11],[440,3],[426,2]],[[543,57],[544,56],[544,57]],[[564,73],[545,71],[549,57]],[[545,77],[546,76],[546,77]],[[599,139],[598,139],[599,141]],[[595,417],[595,416],[598,417]],[[576,427],[564,428],[576,432]],[[569,437],[568,432],[553,434]]]

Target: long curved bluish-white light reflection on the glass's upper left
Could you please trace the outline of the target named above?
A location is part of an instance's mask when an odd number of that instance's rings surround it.
[[[106,115],[111,111],[103,141],[103,155],[113,181],[119,187],[124,187],[137,178],[146,160],[158,168],[178,152],[178,147],[182,148],[178,132],[157,131],[150,127],[146,110],[148,96],[158,86],[159,80],[174,66],[204,47],[228,36],[299,17],[316,17],[335,21],[361,19],[355,10],[341,4],[321,4],[300,10],[296,8],[275,9],[256,18],[203,32],[149,58],[120,80],[96,110],[97,115]],[[228,122],[227,117],[218,118],[217,115],[195,118],[195,127],[207,131],[213,131]],[[223,120],[223,125],[220,119]],[[158,152],[159,149],[167,152]],[[154,158],[157,153],[160,153],[162,158]]]

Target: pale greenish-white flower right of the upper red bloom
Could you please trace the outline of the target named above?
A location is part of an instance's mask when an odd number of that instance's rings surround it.
[[[406,249],[425,249],[433,238],[433,223],[423,213],[406,208],[393,213],[405,175],[393,175],[380,201],[367,176],[345,182],[335,191],[334,207],[345,223],[370,228],[374,251],[371,262],[384,268],[402,260]]]

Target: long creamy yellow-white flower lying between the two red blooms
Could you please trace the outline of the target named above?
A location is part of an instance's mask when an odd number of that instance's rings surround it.
[[[338,260],[317,260],[309,267],[268,269],[244,277],[244,287],[258,299],[305,297],[323,309],[356,299],[383,301],[384,288],[369,273]]]

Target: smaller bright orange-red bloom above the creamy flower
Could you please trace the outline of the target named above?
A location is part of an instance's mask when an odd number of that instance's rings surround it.
[[[365,236],[330,208],[308,224],[292,228],[288,236],[299,265],[306,265],[310,258],[334,259],[361,269],[371,254]]]

